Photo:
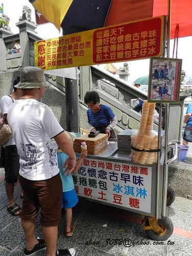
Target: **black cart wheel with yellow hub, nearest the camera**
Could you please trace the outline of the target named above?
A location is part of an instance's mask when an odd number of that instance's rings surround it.
[[[163,217],[158,220],[158,225],[163,229],[162,233],[157,233],[153,229],[147,229],[146,233],[148,237],[156,241],[165,241],[167,240],[174,231],[173,222],[168,217]]]

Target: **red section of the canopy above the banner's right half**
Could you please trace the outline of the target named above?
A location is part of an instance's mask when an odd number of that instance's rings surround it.
[[[105,26],[167,15],[167,0],[113,0]],[[178,35],[175,35],[179,25]],[[192,1],[172,0],[170,38],[192,35]]]

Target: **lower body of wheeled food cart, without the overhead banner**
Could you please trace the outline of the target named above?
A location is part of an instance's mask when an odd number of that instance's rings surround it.
[[[159,160],[147,165],[131,160],[132,131],[124,130],[117,135],[118,139],[110,139],[101,154],[88,155],[83,160],[78,173],[73,174],[75,190],[84,199],[144,216],[143,228],[148,237],[167,240],[173,233],[173,223],[167,216],[166,207],[175,198],[172,188],[167,190],[164,131],[159,131]],[[177,154],[175,143],[175,155],[169,163],[177,158]]]

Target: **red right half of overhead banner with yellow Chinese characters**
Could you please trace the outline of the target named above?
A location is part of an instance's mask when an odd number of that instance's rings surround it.
[[[136,26],[137,25],[137,26]],[[96,30],[93,33],[95,63],[161,55],[161,18]]]

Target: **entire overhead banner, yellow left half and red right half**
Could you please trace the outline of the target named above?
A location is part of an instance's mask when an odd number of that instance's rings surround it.
[[[164,17],[139,20],[35,42],[44,70],[162,56]]]

